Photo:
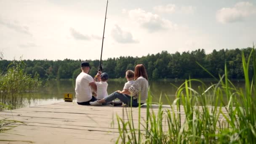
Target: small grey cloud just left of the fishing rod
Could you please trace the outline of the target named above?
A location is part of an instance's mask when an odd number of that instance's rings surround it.
[[[72,27],[69,29],[69,31],[71,35],[75,38],[75,40],[91,40],[91,39],[101,40],[102,38],[98,35],[91,35],[91,36],[83,35]]]

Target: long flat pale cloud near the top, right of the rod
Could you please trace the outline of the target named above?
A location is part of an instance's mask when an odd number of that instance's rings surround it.
[[[158,5],[155,6],[154,11],[159,13],[184,13],[193,14],[195,13],[196,7],[194,6],[177,6],[175,4]]]

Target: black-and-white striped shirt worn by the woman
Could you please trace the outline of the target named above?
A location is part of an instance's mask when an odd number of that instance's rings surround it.
[[[137,99],[139,103],[139,96],[141,96],[141,103],[146,103],[148,96],[149,82],[144,77],[138,77],[137,80],[129,87],[128,91],[133,99]]]

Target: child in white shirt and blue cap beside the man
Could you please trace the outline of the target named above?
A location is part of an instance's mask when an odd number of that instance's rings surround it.
[[[104,99],[104,97],[108,96],[107,94],[107,80],[109,78],[109,75],[107,74],[107,72],[103,72],[101,75],[96,75],[94,77],[94,80],[98,80],[98,82],[95,82],[95,84],[97,85],[97,99]]]

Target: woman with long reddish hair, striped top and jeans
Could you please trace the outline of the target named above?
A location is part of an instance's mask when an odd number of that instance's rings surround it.
[[[128,91],[121,92],[115,91],[111,93],[109,96],[101,99],[99,101],[90,102],[91,105],[98,106],[102,105],[102,103],[109,103],[114,99],[120,99],[123,103],[132,106],[138,107],[139,106],[139,97],[140,103],[144,104],[147,101],[148,96],[148,77],[147,72],[143,64],[137,64],[134,70],[134,80],[135,82],[128,88]],[[129,96],[130,95],[130,96]]]

